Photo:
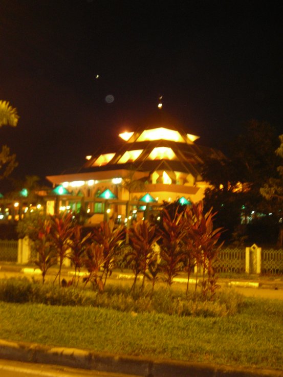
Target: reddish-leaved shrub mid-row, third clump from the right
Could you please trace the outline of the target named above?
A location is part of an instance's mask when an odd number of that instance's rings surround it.
[[[132,249],[126,254],[125,258],[128,264],[132,265],[132,269],[135,275],[134,283],[132,286],[135,290],[137,277],[139,273],[143,275],[141,290],[144,287],[144,279],[147,276],[146,271],[151,268],[151,276],[156,275],[158,271],[157,266],[154,269],[154,263],[157,263],[157,256],[154,251],[154,245],[160,238],[156,234],[156,227],[151,225],[147,220],[140,220],[132,228],[129,229],[129,240]],[[153,280],[153,286],[154,282]]]

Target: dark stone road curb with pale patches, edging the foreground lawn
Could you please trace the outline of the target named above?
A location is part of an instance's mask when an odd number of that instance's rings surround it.
[[[0,340],[0,358],[144,377],[283,377],[283,371],[208,363],[153,360],[66,347]]]

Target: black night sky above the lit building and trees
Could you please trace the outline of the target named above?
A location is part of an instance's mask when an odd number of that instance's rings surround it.
[[[155,119],[161,95],[163,115],[200,144],[221,147],[252,118],[279,135],[282,15],[272,0],[0,0],[0,99],[20,115],[0,130],[14,175],[80,166]]]

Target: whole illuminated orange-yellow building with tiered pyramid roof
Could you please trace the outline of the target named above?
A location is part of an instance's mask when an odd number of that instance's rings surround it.
[[[83,197],[88,212],[97,221],[101,220],[99,213],[106,211],[104,203],[99,202],[101,198],[112,200],[109,203],[113,208],[111,211],[107,208],[107,213],[114,217],[126,216],[128,200],[131,201],[128,214],[139,209],[134,202],[146,193],[160,204],[180,198],[182,204],[200,201],[208,187],[201,175],[204,159],[222,157],[221,152],[196,144],[198,136],[175,127],[123,132],[119,139],[117,148],[89,153],[77,173],[47,177],[54,187],[64,187],[70,195]],[[104,192],[107,198],[102,195]]]

